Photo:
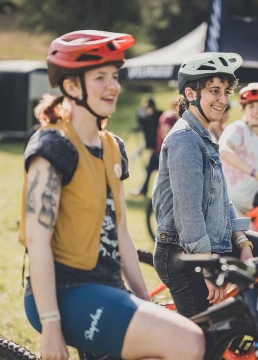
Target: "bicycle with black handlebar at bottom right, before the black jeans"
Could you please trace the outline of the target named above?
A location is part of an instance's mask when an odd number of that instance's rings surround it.
[[[174,259],[178,268],[197,272],[201,268],[207,270],[206,277],[216,286],[225,286],[228,282],[239,288],[239,293],[230,297],[221,304],[203,311],[191,320],[196,322],[207,340],[205,360],[218,359],[252,359],[258,357],[255,351],[255,342],[258,340],[258,258],[242,262],[231,257],[179,255]],[[250,287],[252,286],[252,287]],[[248,335],[243,344],[235,341],[239,336]],[[211,337],[214,337],[211,341]],[[248,349],[245,347],[248,345]],[[238,350],[239,355],[235,353]]]

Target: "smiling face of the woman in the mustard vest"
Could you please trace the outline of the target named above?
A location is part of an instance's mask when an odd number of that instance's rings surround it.
[[[118,70],[114,65],[105,65],[85,72],[87,103],[92,110],[103,117],[116,110],[120,93]]]

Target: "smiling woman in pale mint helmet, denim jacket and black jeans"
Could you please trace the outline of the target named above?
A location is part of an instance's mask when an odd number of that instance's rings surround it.
[[[162,145],[153,188],[157,219],[154,263],[175,305],[190,317],[225,299],[202,272],[178,272],[177,253],[236,254],[252,257],[253,244],[243,231],[249,220],[237,218],[208,127],[221,120],[237,80],[242,58],[232,53],[203,53],[182,63],[178,72],[180,119]]]

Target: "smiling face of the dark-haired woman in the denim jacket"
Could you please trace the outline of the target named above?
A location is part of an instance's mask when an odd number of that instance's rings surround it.
[[[209,120],[221,120],[229,95],[230,87],[227,81],[216,77],[205,83],[205,88],[200,91],[200,106]]]

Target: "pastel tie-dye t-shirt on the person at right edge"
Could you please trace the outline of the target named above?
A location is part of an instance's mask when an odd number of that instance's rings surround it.
[[[258,136],[245,121],[238,120],[225,128],[219,144],[223,147],[228,141],[234,145],[234,151],[243,161],[248,163],[250,167],[258,169]],[[258,191],[258,181],[225,161],[222,162],[228,196],[236,210],[242,213],[250,211],[253,207],[252,202],[255,199],[255,194]]]

